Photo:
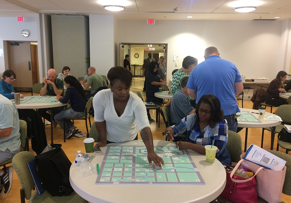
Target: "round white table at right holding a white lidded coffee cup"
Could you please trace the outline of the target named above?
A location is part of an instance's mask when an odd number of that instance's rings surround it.
[[[275,128],[276,126],[281,124],[281,121],[269,121],[269,120],[265,120],[265,119],[261,119],[259,118],[259,110],[255,110],[255,109],[249,109],[249,108],[239,108],[240,111],[249,111],[250,113],[252,113],[256,118],[260,119],[261,123],[256,123],[256,122],[242,122],[242,121],[238,121],[238,126],[237,127],[241,127],[241,128],[246,128],[246,138],[245,138],[245,143],[244,143],[244,151],[246,151],[246,146],[247,146],[247,140],[248,140],[248,128],[266,128],[266,127],[270,127],[272,129],[272,133],[271,133],[271,150],[273,150],[274,147],[274,139],[275,139]],[[269,112],[265,112],[265,115],[272,115],[272,113]],[[262,139],[263,142],[263,139]],[[261,147],[262,147],[261,143]]]

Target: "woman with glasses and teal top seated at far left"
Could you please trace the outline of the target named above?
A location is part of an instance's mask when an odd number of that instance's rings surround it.
[[[15,91],[12,86],[12,82],[16,79],[16,75],[13,70],[5,70],[3,75],[3,79],[0,81],[0,94],[8,99],[14,98]],[[20,98],[24,96],[20,94]]]

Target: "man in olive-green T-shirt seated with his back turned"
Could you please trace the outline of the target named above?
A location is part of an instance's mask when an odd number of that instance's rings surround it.
[[[86,81],[86,83],[83,82],[83,85],[86,88],[89,88],[91,86],[91,92],[90,93],[86,92],[86,97],[89,99],[90,97],[94,97],[96,90],[98,88],[102,86],[107,86],[107,83],[101,75],[98,75],[96,73],[96,69],[93,66],[88,68],[88,75],[89,78]]]

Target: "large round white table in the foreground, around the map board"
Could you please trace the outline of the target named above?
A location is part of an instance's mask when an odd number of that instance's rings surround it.
[[[137,144],[134,144],[137,143]],[[108,144],[114,146],[143,146],[141,140],[124,143]],[[108,146],[107,145],[107,146]],[[100,147],[102,152],[95,153],[92,164],[101,164],[107,150],[107,146]],[[173,142],[154,140],[154,146],[175,146]],[[77,150],[77,149],[76,149]],[[79,150],[79,149],[78,149]],[[85,151],[83,147],[81,149]],[[159,184],[103,184],[95,185],[97,175],[84,175],[73,163],[70,168],[70,183],[74,191],[91,203],[149,203],[149,202],[199,202],[209,203],[218,197],[226,184],[226,172],[222,164],[215,159],[213,164],[207,163],[205,155],[200,155],[189,150],[205,185],[159,185]],[[90,153],[89,153],[90,154]],[[165,167],[165,166],[163,166]],[[101,173],[101,172],[100,172]]]

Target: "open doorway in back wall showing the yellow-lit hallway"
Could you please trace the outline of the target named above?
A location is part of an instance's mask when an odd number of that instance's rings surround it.
[[[167,60],[168,44],[157,43],[120,43],[119,44],[119,66],[123,66],[125,55],[130,55],[131,73],[134,77],[144,77],[143,60],[148,58],[148,53],[152,53],[152,58],[157,62],[159,57],[164,56]],[[167,69],[167,64],[166,64]]]

